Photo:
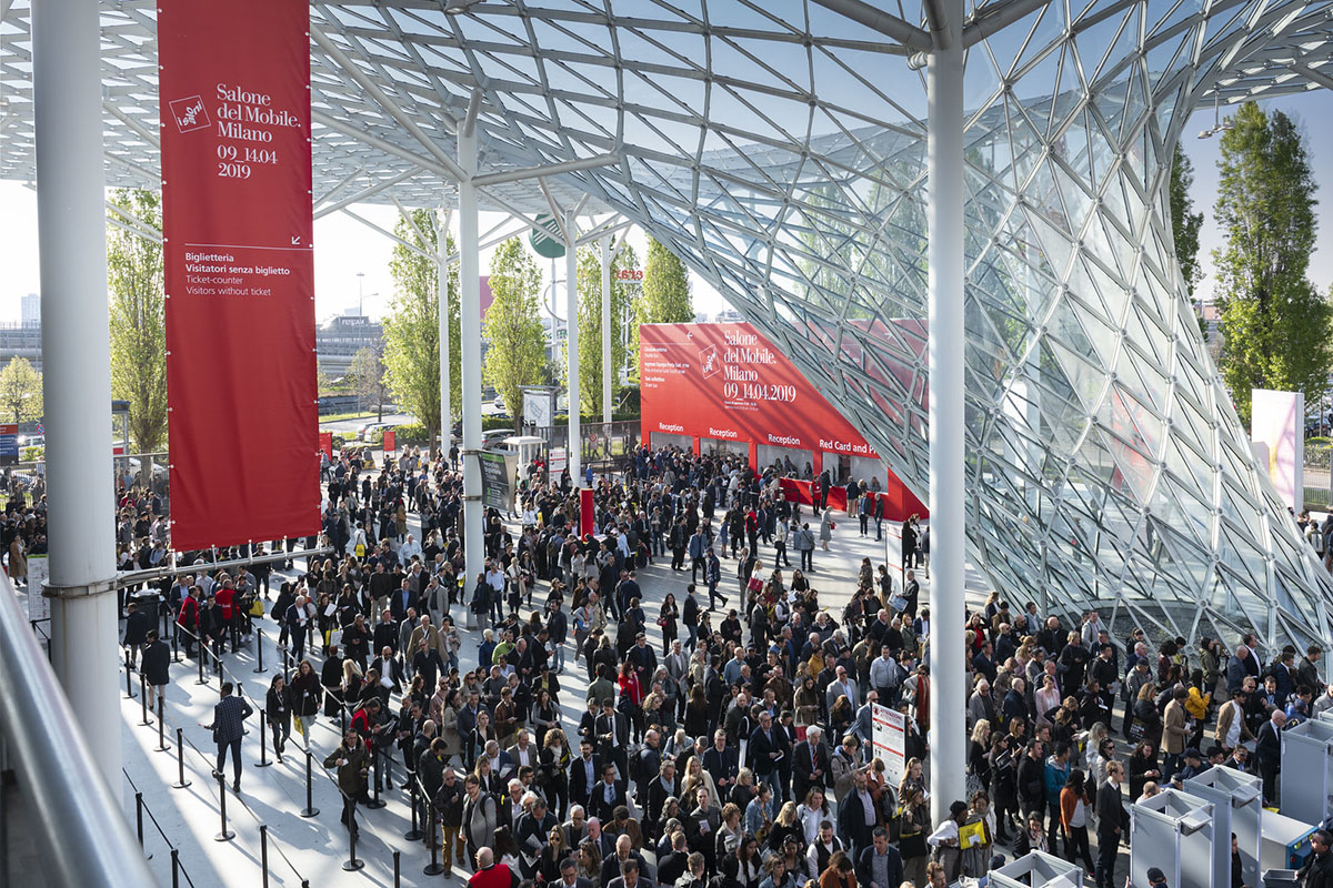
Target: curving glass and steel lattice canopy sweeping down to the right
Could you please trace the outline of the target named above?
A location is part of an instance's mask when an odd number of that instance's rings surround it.
[[[455,133],[520,216],[591,197],[716,285],[925,494],[930,9],[856,0],[312,5],[317,205],[452,204]],[[444,7],[451,7],[445,12]],[[829,8],[825,8],[829,7]],[[837,11],[834,11],[837,9]],[[972,560],[1160,635],[1333,635],[1173,257],[1189,114],[1333,85],[1329,0],[968,5]],[[33,174],[28,0],[0,0],[0,176]],[[152,3],[103,3],[112,184],[156,188]],[[480,104],[477,104],[480,100]],[[503,176],[497,178],[504,178]]]

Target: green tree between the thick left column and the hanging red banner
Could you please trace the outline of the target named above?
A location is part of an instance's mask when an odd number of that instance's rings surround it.
[[[161,197],[119,188],[111,202],[161,232]],[[112,218],[119,218],[112,214]],[[111,393],[129,402],[129,437],[141,453],[167,442],[167,294],[163,246],[123,228],[107,226],[107,289],[111,293]]]

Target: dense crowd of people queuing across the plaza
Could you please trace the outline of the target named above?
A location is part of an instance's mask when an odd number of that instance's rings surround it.
[[[512,513],[487,513],[471,578],[451,459],[364,459],[328,466],[323,533],[305,543],[332,555],[292,579],[281,559],[215,570],[200,555],[161,596],[187,656],[203,639],[215,664],[276,622],[296,667],[264,702],[275,751],[293,727],[308,746],[317,718],[339,716],[324,763],[344,824],[356,829],[372,781],[395,788],[397,767],[447,865],[483,887],[508,871],[567,888],[924,888],[1046,851],[1110,888],[1129,801],[1209,767],[1260,775],[1273,801],[1278,732],[1333,707],[1316,646],[1264,666],[1253,636],[1232,652],[1138,628],[1112,639],[1096,611],[1069,624],[998,592],[966,615],[966,687],[936,688],[914,517],[902,580],[865,558],[834,603],[814,579],[828,537],[802,515],[832,523],[818,481],[802,506],[776,467],[736,455],[639,450],[624,475],[593,479],[592,534],[568,475],[533,473]],[[668,566],[649,603],[640,576]],[[127,606],[127,646],[145,648],[160,687],[165,642]],[[929,700],[954,692],[966,793],[932,821]],[[223,703],[217,774],[229,751],[239,789],[245,714]],[[872,754],[876,706],[904,718],[901,774]]]

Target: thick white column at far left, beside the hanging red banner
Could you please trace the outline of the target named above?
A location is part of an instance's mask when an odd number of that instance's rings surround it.
[[[111,334],[97,4],[32,4],[52,656],[120,797]]]

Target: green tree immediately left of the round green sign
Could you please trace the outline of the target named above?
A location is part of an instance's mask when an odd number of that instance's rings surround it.
[[[491,257],[495,301],[481,330],[489,347],[481,373],[509,409],[515,431],[523,422],[523,386],[540,385],[547,375],[540,290],[541,272],[519,238],[511,237],[496,248]]]

